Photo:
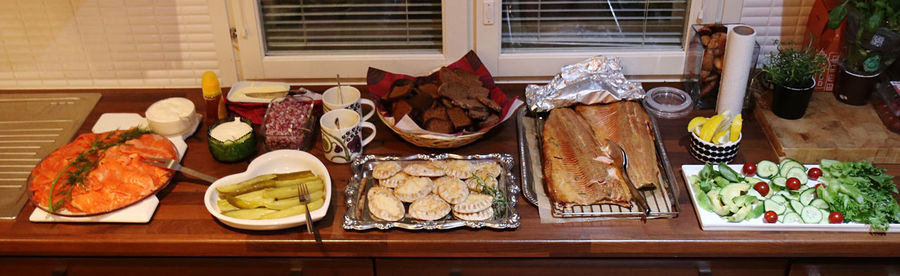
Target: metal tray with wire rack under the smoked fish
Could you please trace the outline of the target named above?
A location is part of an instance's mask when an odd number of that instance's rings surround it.
[[[527,108],[516,112],[516,123],[519,136],[519,161],[522,173],[522,196],[534,206],[538,206],[538,195],[534,187],[544,185],[541,166],[541,132],[548,113],[534,113]],[[662,137],[657,129],[656,117],[650,115],[653,135],[655,137],[657,159],[659,160],[659,180],[662,187],[651,190],[639,190],[650,207],[650,213],[646,218],[669,218],[678,216],[678,201],[675,199],[676,189],[672,168],[669,166],[669,157],[662,143]],[[532,141],[529,141],[529,137]],[[630,160],[640,162],[640,160]],[[636,205],[636,204],[635,204]],[[644,213],[637,207],[631,209],[622,208],[612,204],[593,204],[560,206],[551,202],[551,213],[554,217],[619,217],[619,218],[644,218]]]

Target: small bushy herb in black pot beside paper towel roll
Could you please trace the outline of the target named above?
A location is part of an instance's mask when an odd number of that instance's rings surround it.
[[[769,54],[769,64],[762,68],[773,87],[772,112],[781,118],[800,119],[816,87],[815,77],[825,72],[828,60],[812,48],[812,43],[806,47],[794,42],[775,44],[778,51]]]

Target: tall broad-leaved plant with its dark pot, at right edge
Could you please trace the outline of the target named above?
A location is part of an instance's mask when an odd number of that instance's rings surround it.
[[[828,14],[828,27],[844,28],[844,57],[835,79],[839,101],[864,105],[877,77],[900,53],[900,0],[846,0]]]

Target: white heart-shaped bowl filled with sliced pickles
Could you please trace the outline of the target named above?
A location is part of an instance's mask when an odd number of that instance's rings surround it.
[[[298,185],[307,185],[312,221],[331,203],[331,176],[318,158],[304,151],[260,155],[247,171],[219,179],[206,189],[206,209],[222,223],[247,230],[277,230],[305,224]]]

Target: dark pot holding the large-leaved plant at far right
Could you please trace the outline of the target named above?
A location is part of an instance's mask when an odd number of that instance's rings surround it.
[[[841,71],[834,80],[834,98],[849,105],[865,105],[869,103],[875,84],[878,83],[878,75],[874,73],[865,75],[855,73],[844,67],[844,63],[838,63]]]

